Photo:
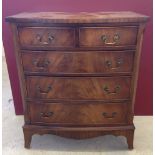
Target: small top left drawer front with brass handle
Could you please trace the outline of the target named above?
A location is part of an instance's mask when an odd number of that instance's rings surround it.
[[[25,27],[18,28],[22,48],[74,47],[73,28]]]

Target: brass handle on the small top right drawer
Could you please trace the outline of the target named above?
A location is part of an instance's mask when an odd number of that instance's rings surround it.
[[[101,36],[101,40],[103,41],[103,43],[105,45],[115,45],[115,44],[118,44],[118,41],[120,39],[120,35],[118,33],[116,33],[113,37],[113,42],[107,42],[108,40],[108,37],[106,35],[102,35]]]

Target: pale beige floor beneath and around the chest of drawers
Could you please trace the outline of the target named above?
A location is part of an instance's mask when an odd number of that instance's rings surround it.
[[[152,155],[152,117],[136,116],[134,149],[122,136],[72,140],[54,135],[34,135],[31,149],[24,148],[23,116],[16,116],[7,68],[3,60],[3,155]]]

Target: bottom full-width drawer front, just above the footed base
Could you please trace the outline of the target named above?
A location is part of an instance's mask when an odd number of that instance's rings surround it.
[[[30,104],[31,123],[43,124],[125,124],[126,104]]]

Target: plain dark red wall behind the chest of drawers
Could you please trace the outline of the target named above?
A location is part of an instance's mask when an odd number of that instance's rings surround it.
[[[152,115],[152,33],[153,33],[152,0],[3,0],[3,44],[11,81],[12,94],[16,114],[23,113],[19,80],[15,62],[12,33],[5,17],[20,12],[66,11],[135,11],[150,16],[147,23],[142,56],[140,62],[139,80],[135,103],[136,115]]]

